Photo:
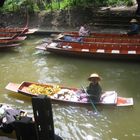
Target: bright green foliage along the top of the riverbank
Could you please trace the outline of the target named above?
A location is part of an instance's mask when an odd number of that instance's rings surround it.
[[[42,10],[59,10],[75,6],[122,6],[133,5],[132,0],[6,0],[0,11],[19,11],[28,9],[29,12]]]

